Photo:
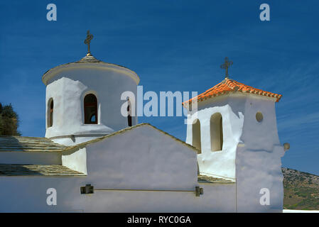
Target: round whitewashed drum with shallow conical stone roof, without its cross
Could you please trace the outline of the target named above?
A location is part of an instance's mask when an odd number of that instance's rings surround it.
[[[97,60],[90,49],[81,60],[48,70],[42,77],[45,137],[73,145],[128,127],[128,119],[121,115],[125,102],[121,94],[129,91],[136,96],[139,80],[126,67]],[[136,123],[133,117],[132,124]]]

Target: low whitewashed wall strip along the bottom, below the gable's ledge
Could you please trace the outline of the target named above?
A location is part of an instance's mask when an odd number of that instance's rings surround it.
[[[200,184],[193,192],[96,191],[80,194],[87,177],[0,177],[0,212],[235,212],[234,184]],[[48,188],[57,205],[48,206]]]

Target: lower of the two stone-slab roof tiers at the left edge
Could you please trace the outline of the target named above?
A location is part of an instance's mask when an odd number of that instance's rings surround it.
[[[82,172],[70,170],[63,165],[13,165],[0,164],[0,176],[86,176]]]

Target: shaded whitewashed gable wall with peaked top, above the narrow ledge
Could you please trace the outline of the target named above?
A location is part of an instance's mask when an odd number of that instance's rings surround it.
[[[99,188],[195,189],[196,153],[151,126],[139,126],[87,145],[87,173]]]

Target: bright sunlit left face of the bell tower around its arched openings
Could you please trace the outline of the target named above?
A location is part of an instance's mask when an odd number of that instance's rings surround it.
[[[198,155],[198,165],[201,174],[235,179],[236,149],[242,135],[245,101],[245,96],[237,94],[207,99],[198,103],[197,115],[190,116],[191,122],[195,118],[200,120],[202,153]],[[224,142],[220,151],[212,151],[210,143],[210,117],[215,113],[222,115]],[[192,138],[189,124],[186,143],[192,144]]]

